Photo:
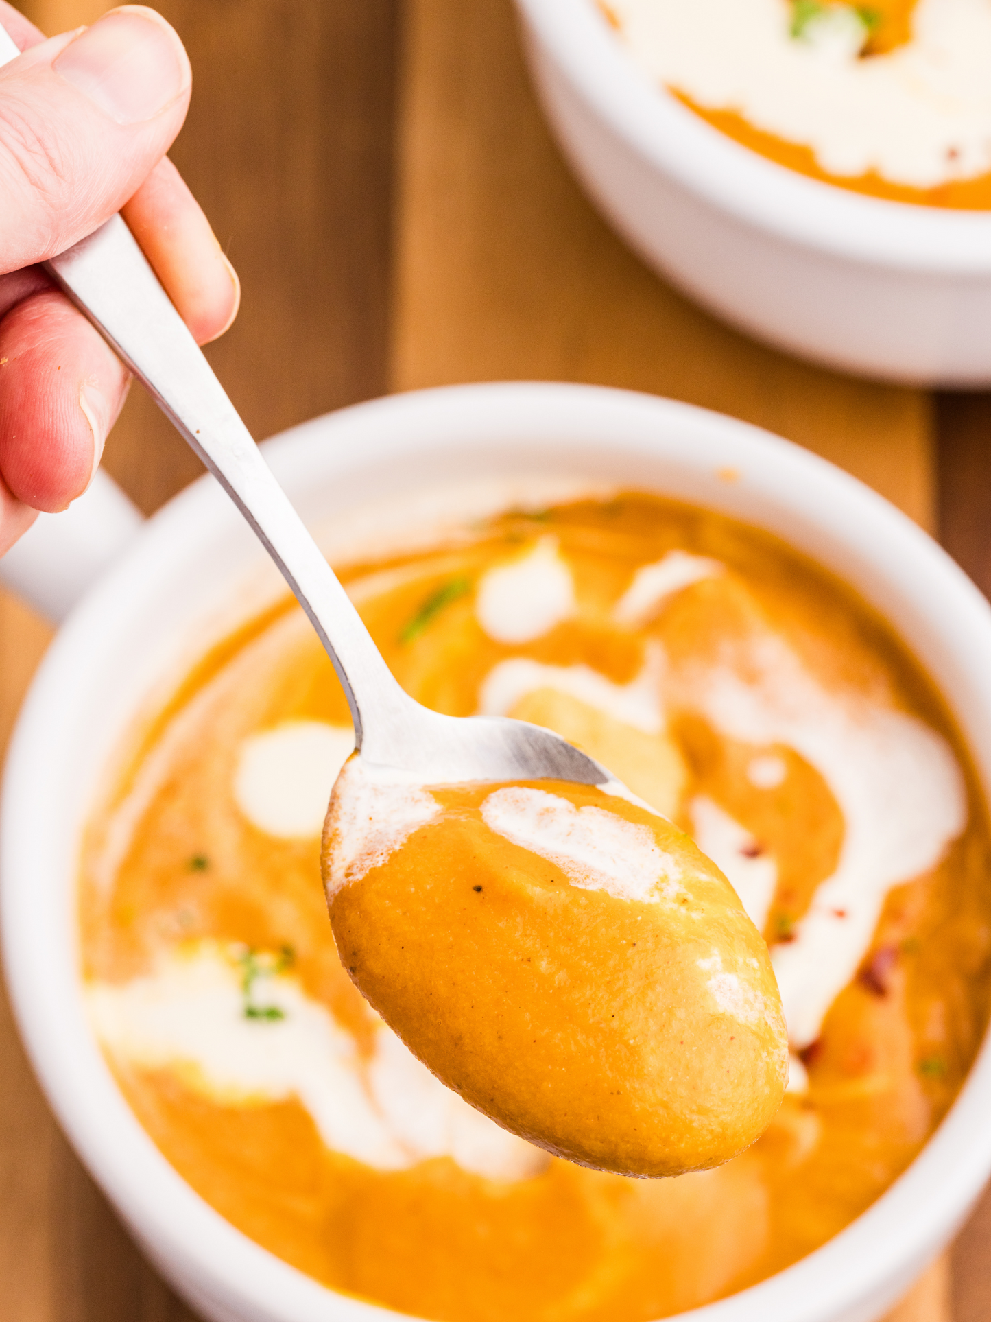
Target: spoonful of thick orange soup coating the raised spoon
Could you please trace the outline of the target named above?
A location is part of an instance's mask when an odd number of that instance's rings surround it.
[[[621,789],[411,785],[355,755],[324,834],[330,925],[354,985],[465,1101],[555,1157],[683,1175],[768,1128],[788,1030],[739,896]]]

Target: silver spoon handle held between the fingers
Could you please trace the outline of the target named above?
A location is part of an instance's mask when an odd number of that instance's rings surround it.
[[[0,66],[20,54],[0,25]],[[334,664],[355,747],[412,705],[120,215],[45,270],[151,393],[279,566]]]

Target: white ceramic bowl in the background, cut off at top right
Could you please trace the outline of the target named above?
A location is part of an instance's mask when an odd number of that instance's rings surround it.
[[[806,178],[650,82],[595,0],[517,8],[566,156],[649,264],[744,330],[828,366],[991,382],[991,212]]]

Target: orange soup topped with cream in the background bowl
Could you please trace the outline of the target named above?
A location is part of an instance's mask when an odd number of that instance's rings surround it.
[[[991,0],[603,0],[633,58],[790,169],[991,209]]]

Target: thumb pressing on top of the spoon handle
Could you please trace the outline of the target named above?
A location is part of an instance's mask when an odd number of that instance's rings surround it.
[[[137,190],[182,127],[189,59],[153,9],[112,9],[0,69],[0,274],[54,256]]]

